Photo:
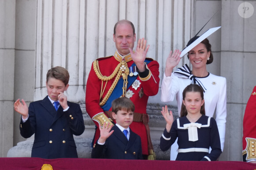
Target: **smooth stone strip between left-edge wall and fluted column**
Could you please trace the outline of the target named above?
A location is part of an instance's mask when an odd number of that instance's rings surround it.
[[[14,101],[24,99],[27,105],[33,101],[35,87],[35,14],[36,1],[16,1]],[[14,112],[13,145],[26,140],[19,132],[20,117]]]

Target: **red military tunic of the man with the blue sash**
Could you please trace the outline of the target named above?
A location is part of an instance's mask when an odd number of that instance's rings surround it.
[[[114,58],[113,56],[98,59],[99,70],[103,76],[110,76],[114,72],[114,69],[116,69],[119,63],[120,61],[117,61],[117,59]],[[133,63],[134,63],[133,61],[128,61],[127,62],[128,67],[130,67]],[[160,79],[159,79],[158,62],[151,61],[149,64],[147,64],[147,67],[152,74],[151,77],[146,81],[142,81],[138,76],[137,80],[139,80],[141,84],[139,85],[137,90],[135,90],[135,88],[133,88],[132,86],[128,88],[132,90],[132,92],[134,93],[130,99],[135,105],[134,112],[138,112],[138,113],[146,113],[148,97],[156,95],[158,93],[158,88],[159,88]],[[107,94],[114,80],[115,80],[115,77],[112,80],[108,81],[105,91],[103,93],[102,99]],[[96,114],[103,112],[103,109],[99,106],[100,93],[102,88],[101,86],[102,86],[102,80],[98,79],[92,65],[90,74],[87,80],[87,85],[86,85],[86,110],[91,118]],[[104,87],[105,87],[105,82],[103,83],[103,88]],[[139,91],[141,88],[143,88],[143,93],[144,93],[142,98],[139,97]],[[111,108],[109,110],[111,110]],[[94,123],[97,125],[97,127],[99,126],[98,122],[94,121]],[[142,122],[132,122],[132,124],[130,125],[130,128],[132,129],[133,132],[135,132],[141,137],[142,153],[143,155],[148,155],[147,133],[146,133],[145,126],[143,125]],[[94,138],[94,143],[99,138],[99,134],[100,134],[99,129],[97,129],[95,133],[96,134]]]

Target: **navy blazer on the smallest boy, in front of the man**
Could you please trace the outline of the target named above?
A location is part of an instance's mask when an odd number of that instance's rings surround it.
[[[139,135],[132,132],[130,128],[129,141],[124,133],[113,126],[113,134],[105,141],[104,145],[99,145],[98,141],[94,145],[91,157],[104,159],[142,159],[141,140]]]

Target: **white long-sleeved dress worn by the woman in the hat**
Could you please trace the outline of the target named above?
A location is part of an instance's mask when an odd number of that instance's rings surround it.
[[[223,151],[226,130],[226,78],[215,76],[211,73],[206,77],[196,77],[203,84],[206,91],[204,93],[206,116],[212,117],[216,109],[216,122],[220,135],[221,149]],[[174,73],[162,80],[161,101],[170,102],[176,97],[178,112],[180,116],[182,104],[182,92],[191,83],[188,78],[177,77]],[[178,145],[176,142],[171,147],[171,160],[177,157]]]

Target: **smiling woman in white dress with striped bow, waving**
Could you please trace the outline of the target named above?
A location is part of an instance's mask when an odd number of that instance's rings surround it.
[[[187,47],[194,42],[199,36],[193,37],[188,41]],[[188,59],[192,65],[190,71],[188,65],[173,72],[180,61],[181,52],[175,50],[170,52],[166,60],[166,68],[162,80],[161,101],[170,102],[176,97],[178,111],[180,116],[182,104],[182,92],[188,84],[196,83],[203,88],[206,116],[212,117],[216,110],[215,120],[217,122],[220,135],[221,148],[223,151],[226,130],[226,78],[215,76],[207,72],[206,65],[211,64],[213,55],[211,53],[211,44],[206,38],[188,52]],[[171,147],[171,160],[177,157],[177,141],[176,145]]]

